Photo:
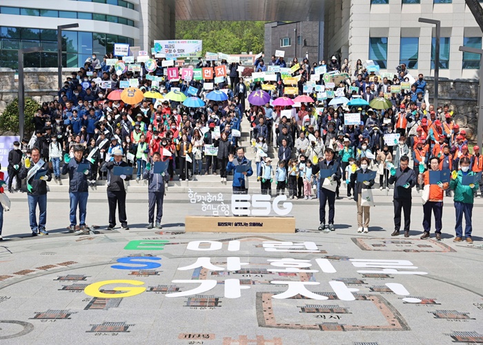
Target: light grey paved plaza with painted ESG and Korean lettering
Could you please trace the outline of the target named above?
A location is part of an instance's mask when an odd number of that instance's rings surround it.
[[[420,240],[419,197],[409,239],[390,236],[391,197],[376,198],[366,235],[357,234],[348,199],[337,201],[334,233],[317,232],[317,201],[300,200],[292,212],[299,233],[278,235],[184,233],[184,217],[201,215],[201,203],[181,194],[166,197],[161,231],[144,228],[146,195],[133,193],[130,230],[106,231],[105,195],[92,193],[88,224],[100,233],[73,236],[63,233],[66,193],[50,193],[50,235],[20,238],[30,233],[25,199],[12,195],[0,243],[2,344],[483,342],[483,199],[473,245],[452,242],[451,201],[443,240]],[[271,251],[274,241],[293,244]],[[139,286],[102,285],[109,280]]]

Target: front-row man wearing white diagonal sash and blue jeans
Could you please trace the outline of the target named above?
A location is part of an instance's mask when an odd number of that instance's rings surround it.
[[[31,158],[26,158],[19,172],[20,179],[27,179],[27,198],[30,218],[30,230],[32,236],[48,235],[46,231],[47,222],[47,183],[52,180],[48,171],[48,164],[40,159],[40,150],[32,148]],[[35,210],[39,206],[39,223]]]

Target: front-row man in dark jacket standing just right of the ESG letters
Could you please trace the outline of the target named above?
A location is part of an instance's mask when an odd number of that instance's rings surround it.
[[[321,179],[319,190],[319,230],[334,231],[334,217],[335,217],[335,188],[337,181],[342,177],[339,167],[339,162],[335,159],[335,152],[332,148],[326,148],[325,159],[319,161],[318,169],[313,168],[312,173],[315,175],[319,171]],[[323,170],[330,170],[332,175],[322,177]],[[324,182],[322,183],[322,179]],[[326,227],[326,204],[328,202],[328,228]]]

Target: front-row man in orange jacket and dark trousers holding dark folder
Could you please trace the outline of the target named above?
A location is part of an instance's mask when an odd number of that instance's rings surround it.
[[[440,159],[438,157],[431,157],[429,159],[430,170],[439,171],[440,170]],[[429,185],[429,195],[426,203],[423,204],[423,229],[424,233],[421,239],[426,239],[430,237],[431,233],[431,213],[435,215],[435,226],[436,226],[436,239],[441,240],[441,230],[443,228],[442,216],[443,216],[443,190],[448,189],[449,183],[442,183],[438,181],[437,184],[429,184],[429,174],[430,170],[427,170],[419,175],[419,184],[426,186]]]

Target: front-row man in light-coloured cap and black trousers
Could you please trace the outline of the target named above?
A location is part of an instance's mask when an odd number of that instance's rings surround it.
[[[121,228],[123,230],[129,230],[128,217],[126,216],[126,188],[124,187],[124,181],[129,181],[131,179],[132,168],[122,160],[123,153],[120,148],[112,151],[112,156],[112,161],[105,161],[101,166],[101,171],[107,172],[108,175],[108,230],[114,230],[114,227],[116,226],[117,206],[119,206],[119,221],[121,222]],[[128,169],[130,169],[130,173],[128,173]],[[121,171],[121,173],[119,173],[119,171]]]

